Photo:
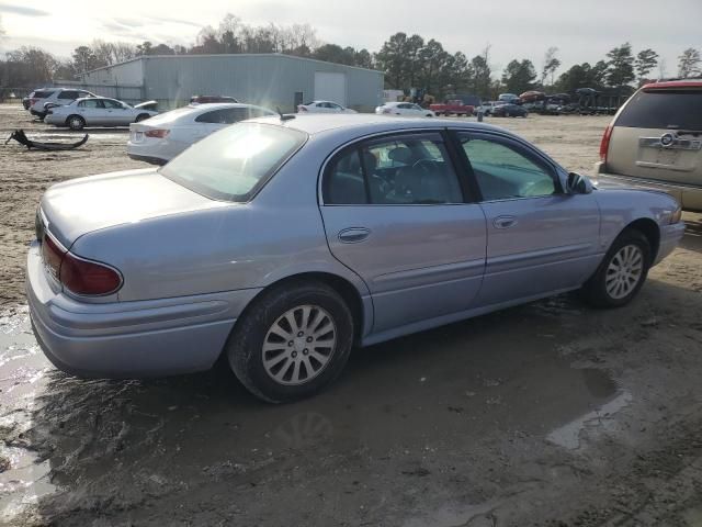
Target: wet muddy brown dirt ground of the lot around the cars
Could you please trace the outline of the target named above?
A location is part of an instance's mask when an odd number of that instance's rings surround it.
[[[494,120],[588,173],[609,117]],[[16,127],[75,136],[0,105]],[[363,350],[329,391],[257,402],[226,370],[69,378],[23,300],[52,182],[141,167],[126,133],[0,148],[0,525],[702,526],[702,222],[627,307],[571,295]]]

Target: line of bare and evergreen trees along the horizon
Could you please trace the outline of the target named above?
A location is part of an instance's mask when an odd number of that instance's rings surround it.
[[[0,27],[0,35],[2,30]],[[463,52],[451,53],[441,42],[418,34],[399,32],[392,35],[376,53],[351,46],[322,43],[309,24],[250,25],[227,14],[217,27],[203,27],[190,46],[154,44],[134,45],[126,42],[93,41],[77,47],[69,59],[32,46],[5,54],[0,60],[0,86],[33,87],[54,79],[76,79],[92,69],[111,66],[148,55],[282,53],[330,63],[374,68],[385,71],[386,88],[406,92],[418,88],[435,97],[450,93],[473,93],[495,98],[499,92],[522,93],[529,90],[573,93],[578,88],[603,91],[631,91],[648,78],[665,75],[666,65],[650,48],[634,53],[630,43],[611,49],[595,64],[582,63],[556,76],[562,67],[558,48],[545,51],[541,70],[529,58],[513,59],[502,71],[494,71],[490,46],[473,58]],[[693,47],[678,57],[678,76],[702,75],[702,57]],[[652,75],[658,69],[657,75]]]

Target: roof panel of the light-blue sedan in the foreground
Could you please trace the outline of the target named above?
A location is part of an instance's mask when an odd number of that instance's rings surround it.
[[[375,113],[353,113],[353,114],[295,114],[294,119],[281,121],[280,117],[258,117],[249,122],[264,124],[278,124],[287,128],[298,130],[309,135],[322,132],[338,133],[340,135],[353,135],[355,131],[359,135],[366,135],[383,132],[401,132],[420,128],[465,128],[496,131],[514,135],[510,132],[492,126],[490,124],[457,121],[455,119],[431,119],[427,117],[403,117],[397,119],[392,115],[377,115]]]

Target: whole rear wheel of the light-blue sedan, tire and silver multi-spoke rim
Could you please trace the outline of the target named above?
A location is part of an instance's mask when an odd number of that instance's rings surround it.
[[[227,343],[229,366],[256,396],[270,403],[308,397],[332,382],[347,363],[353,319],[343,299],[317,281],[264,292]]]

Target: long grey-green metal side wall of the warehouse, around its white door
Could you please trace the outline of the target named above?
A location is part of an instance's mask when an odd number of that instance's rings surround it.
[[[290,112],[295,92],[303,92],[304,102],[315,98],[315,71],[346,75],[346,104],[350,108],[372,111],[383,99],[380,71],[285,55],[145,57],[143,65],[145,98],[171,105],[182,104],[193,94],[218,94]],[[113,75],[118,74],[117,68],[112,68]]]

